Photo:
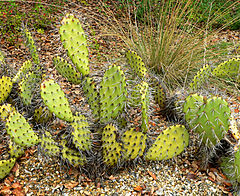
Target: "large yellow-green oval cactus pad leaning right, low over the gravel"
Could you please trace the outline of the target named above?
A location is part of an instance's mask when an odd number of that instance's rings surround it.
[[[183,125],[164,130],[148,149],[146,160],[160,161],[179,155],[189,143],[189,133]]]

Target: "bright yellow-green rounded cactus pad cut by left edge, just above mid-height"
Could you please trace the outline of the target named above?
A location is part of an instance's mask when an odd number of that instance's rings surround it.
[[[0,79],[0,103],[8,98],[8,95],[12,90],[12,85],[12,80],[8,76],[3,76]]]

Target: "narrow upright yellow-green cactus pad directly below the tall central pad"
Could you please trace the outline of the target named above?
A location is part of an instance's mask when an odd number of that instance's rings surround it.
[[[102,132],[103,162],[106,165],[113,166],[121,159],[121,143],[116,141],[116,128],[109,124]]]

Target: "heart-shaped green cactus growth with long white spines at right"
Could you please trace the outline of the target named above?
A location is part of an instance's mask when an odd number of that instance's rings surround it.
[[[202,99],[201,96],[191,95],[187,98],[183,111],[190,128],[199,133],[207,147],[214,148],[229,129],[230,109],[220,97],[205,98],[201,103]]]

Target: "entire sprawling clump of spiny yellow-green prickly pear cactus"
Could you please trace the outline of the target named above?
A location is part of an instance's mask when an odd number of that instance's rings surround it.
[[[132,86],[121,66],[117,65],[109,66],[103,77],[95,80],[90,71],[87,39],[80,21],[67,14],[61,24],[61,41],[71,62],[54,57],[53,64],[59,74],[79,85],[91,112],[89,110],[86,115],[78,108],[73,110],[61,86],[42,75],[36,46],[26,30],[33,63],[26,61],[13,79],[8,76],[0,79],[0,121],[11,140],[10,159],[0,161],[0,179],[10,172],[24,149],[34,145],[39,145],[47,157],[60,157],[74,167],[104,164],[104,168],[116,168],[138,159],[160,161],[179,155],[189,144],[188,129],[198,133],[204,146],[211,150],[226,136],[230,127],[227,102],[220,97],[190,94],[182,99],[183,103],[177,104],[185,122],[162,130],[156,139],[151,137],[150,103],[158,104],[160,109],[167,107],[166,90],[161,82],[147,73],[141,57],[133,51],[126,54],[137,76]],[[210,67],[204,66],[189,88],[196,90],[209,73]],[[22,105],[13,106],[14,101],[8,99],[14,85],[19,88]],[[129,111],[134,109],[141,116],[140,129],[127,121],[133,118]],[[125,123],[121,122],[123,118]],[[64,124],[58,136],[54,136],[50,126],[54,120]],[[39,127],[41,129],[37,130]],[[234,154],[235,160],[239,159],[238,154],[239,151]],[[238,164],[233,163],[234,171],[239,170]]]

